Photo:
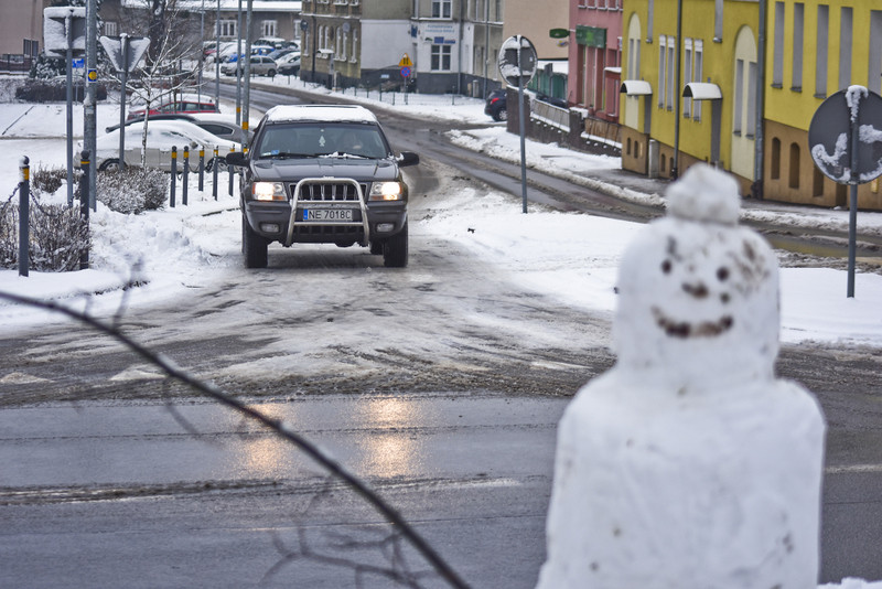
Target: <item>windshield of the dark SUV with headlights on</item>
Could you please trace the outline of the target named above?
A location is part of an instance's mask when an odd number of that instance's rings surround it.
[[[260,133],[258,158],[357,157],[383,159],[389,146],[375,125],[292,122],[268,125]]]

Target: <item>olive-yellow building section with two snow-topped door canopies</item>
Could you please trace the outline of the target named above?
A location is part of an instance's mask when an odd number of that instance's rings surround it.
[[[674,178],[704,161],[733,172],[749,193],[759,14],[757,2],[735,0],[625,2],[623,168]]]

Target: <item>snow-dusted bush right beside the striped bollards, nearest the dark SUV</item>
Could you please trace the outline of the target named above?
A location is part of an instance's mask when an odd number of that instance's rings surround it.
[[[169,176],[160,170],[126,168],[98,172],[97,199],[111,211],[139,214],[165,204]]]

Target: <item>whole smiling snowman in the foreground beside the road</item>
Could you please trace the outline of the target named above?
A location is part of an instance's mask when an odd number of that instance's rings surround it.
[[[558,428],[538,589],[817,587],[825,421],[777,379],[777,260],[698,164],[626,249],[615,366]]]

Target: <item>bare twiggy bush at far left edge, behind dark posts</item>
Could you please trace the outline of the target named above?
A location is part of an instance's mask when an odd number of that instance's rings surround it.
[[[14,199],[0,204],[0,267],[19,264],[19,205]],[[29,267],[36,271],[64,272],[79,268],[79,258],[90,247],[88,224],[79,208],[42,204],[32,195],[30,205]]]

